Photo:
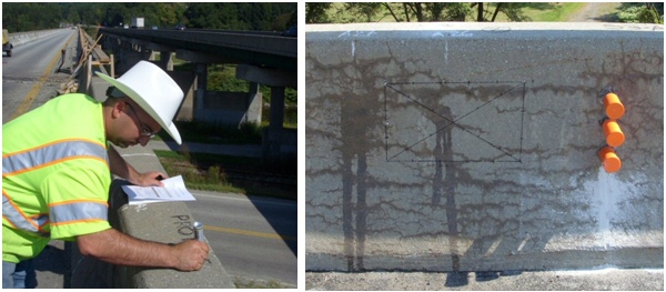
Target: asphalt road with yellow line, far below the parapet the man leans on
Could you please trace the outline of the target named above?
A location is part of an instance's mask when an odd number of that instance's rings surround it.
[[[186,202],[204,223],[204,235],[232,278],[297,282],[297,207],[295,201],[233,193],[192,191]]]

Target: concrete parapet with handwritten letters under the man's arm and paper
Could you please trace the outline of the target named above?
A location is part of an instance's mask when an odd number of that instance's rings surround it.
[[[183,202],[130,205],[121,188],[124,183],[127,182],[115,180],[111,188],[109,222],[114,229],[137,239],[169,244],[194,238],[194,218]],[[72,288],[235,288],[212,250],[209,261],[201,270],[181,272],[173,269],[112,265],[82,256],[74,244],[72,266]]]

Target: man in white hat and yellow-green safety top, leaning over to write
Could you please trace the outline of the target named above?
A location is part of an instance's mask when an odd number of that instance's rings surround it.
[[[111,228],[111,173],[138,185],[162,185],[161,172],[139,173],[108,144],[145,145],[172,122],[183,99],[159,67],[141,61],[99,103],[85,94],[58,97],[2,125],[2,288],[23,288],[30,259],[51,239],[77,241],[83,255],[121,265],[196,271],[208,244],[139,240]]]

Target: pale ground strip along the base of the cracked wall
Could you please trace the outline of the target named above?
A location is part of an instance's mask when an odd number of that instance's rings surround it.
[[[305,273],[305,290],[664,291],[663,269],[470,273]]]

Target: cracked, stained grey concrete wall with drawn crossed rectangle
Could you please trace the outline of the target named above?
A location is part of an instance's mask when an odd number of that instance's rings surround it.
[[[663,26],[306,30],[306,270],[663,268]]]

